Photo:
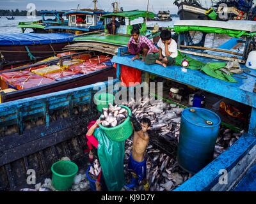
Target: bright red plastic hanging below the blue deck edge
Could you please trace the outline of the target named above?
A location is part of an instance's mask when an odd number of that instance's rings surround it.
[[[141,71],[138,69],[131,68],[129,66],[121,66],[121,82],[124,86],[134,86],[133,83],[141,84]],[[129,85],[129,82],[132,83]]]

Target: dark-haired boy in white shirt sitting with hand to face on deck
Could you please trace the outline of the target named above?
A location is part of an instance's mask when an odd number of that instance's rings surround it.
[[[172,39],[172,33],[169,30],[163,30],[160,34],[160,40],[157,43],[159,53],[149,54],[146,64],[161,64],[164,66],[172,66],[175,64],[175,57],[178,55],[177,43]]]

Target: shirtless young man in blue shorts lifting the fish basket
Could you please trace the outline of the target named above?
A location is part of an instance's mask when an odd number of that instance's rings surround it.
[[[144,156],[149,142],[147,131],[151,126],[151,122],[145,117],[140,120],[140,123],[136,120],[134,115],[130,118],[134,128],[132,153],[128,164],[128,169],[132,171],[132,181],[131,184],[127,184],[125,187],[131,189],[138,186],[141,182],[145,191],[149,191],[147,164]]]

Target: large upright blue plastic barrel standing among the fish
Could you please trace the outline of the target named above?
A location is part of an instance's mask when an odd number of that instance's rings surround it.
[[[181,168],[196,173],[213,159],[220,117],[205,108],[186,108],[181,115],[177,160]]]

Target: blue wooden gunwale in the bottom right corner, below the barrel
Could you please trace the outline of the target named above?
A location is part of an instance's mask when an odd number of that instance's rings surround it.
[[[174,189],[174,191],[210,191],[213,186],[218,184],[218,180],[222,175],[219,171],[230,171],[255,144],[256,137],[245,133],[223,154],[196,173],[191,179]]]

